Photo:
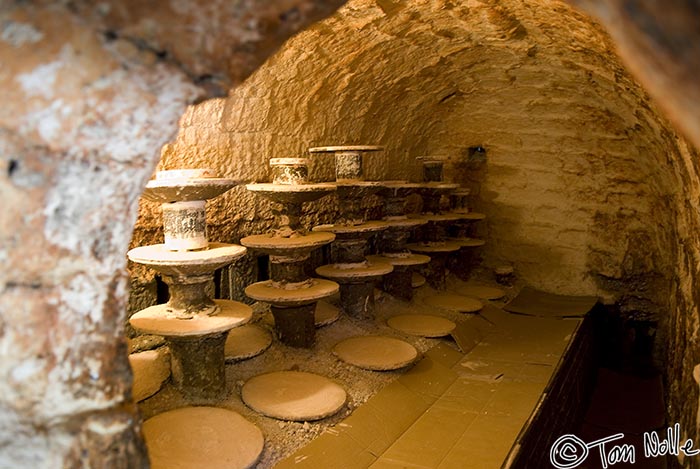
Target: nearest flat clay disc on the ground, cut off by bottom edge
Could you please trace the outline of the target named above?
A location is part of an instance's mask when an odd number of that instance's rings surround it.
[[[236,412],[183,407],[143,423],[152,469],[252,467],[263,450],[258,427]]]

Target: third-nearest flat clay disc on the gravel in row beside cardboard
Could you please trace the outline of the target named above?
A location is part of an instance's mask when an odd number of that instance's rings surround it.
[[[351,365],[376,371],[403,368],[418,357],[413,345],[383,336],[351,337],[336,344],[333,353]]]

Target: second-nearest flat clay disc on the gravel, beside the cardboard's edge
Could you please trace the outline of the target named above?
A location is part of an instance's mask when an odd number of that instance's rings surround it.
[[[303,371],[277,371],[251,378],[241,397],[253,410],[268,417],[298,422],[319,420],[338,412],[345,390],[323,376]]]

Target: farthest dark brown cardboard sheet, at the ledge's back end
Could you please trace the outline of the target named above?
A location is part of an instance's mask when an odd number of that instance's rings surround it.
[[[598,302],[595,296],[567,296],[524,287],[503,309],[516,314],[541,317],[585,316]]]

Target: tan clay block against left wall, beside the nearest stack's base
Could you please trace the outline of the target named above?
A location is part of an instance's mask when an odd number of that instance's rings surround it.
[[[142,401],[157,393],[170,377],[170,351],[168,347],[132,353],[129,365],[134,374],[131,395],[134,402]]]

